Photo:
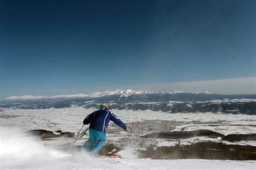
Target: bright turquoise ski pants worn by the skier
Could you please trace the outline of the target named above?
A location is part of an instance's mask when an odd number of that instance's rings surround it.
[[[106,141],[106,133],[94,129],[89,129],[89,140],[83,146],[83,149],[90,150],[91,154],[97,155]]]

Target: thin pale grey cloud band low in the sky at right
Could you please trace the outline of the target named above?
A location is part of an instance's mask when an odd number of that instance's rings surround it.
[[[154,83],[130,86],[134,90],[205,92],[214,94],[256,94],[256,77],[234,79],[189,81],[176,83]]]

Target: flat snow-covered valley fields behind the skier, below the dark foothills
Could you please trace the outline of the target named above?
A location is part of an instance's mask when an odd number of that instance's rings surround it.
[[[84,109],[82,107],[71,107],[61,109],[3,109],[2,114],[15,116],[2,119],[1,125],[21,126],[24,129],[45,129],[54,131],[56,129],[77,132],[82,125],[83,119],[91,114],[95,109]],[[181,129],[199,130],[208,129],[223,134],[235,133],[255,133],[256,116],[244,114],[223,114],[219,113],[177,113],[168,114],[162,111],[152,110],[111,110],[123,122],[137,122],[140,120],[152,121],[180,121],[180,122],[221,122],[215,126],[207,124],[184,124],[177,126],[176,130]],[[0,112],[1,115],[1,112]],[[219,125],[219,126],[218,126]],[[221,128],[220,128],[221,127]]]

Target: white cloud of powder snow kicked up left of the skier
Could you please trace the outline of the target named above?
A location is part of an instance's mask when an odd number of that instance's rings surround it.
[[[18,128],[0,126],[0,132],[0,169],[72,169],[70,162],[76,162],[75,168],[95,162],[82,151],[61,151],[57,146],[45,146]]]

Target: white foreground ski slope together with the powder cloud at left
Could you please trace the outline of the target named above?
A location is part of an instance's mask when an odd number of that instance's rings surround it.
[[[43,145],[21,129],[0,127],[1,169],[255,169],[256,161],[92,158]]]

